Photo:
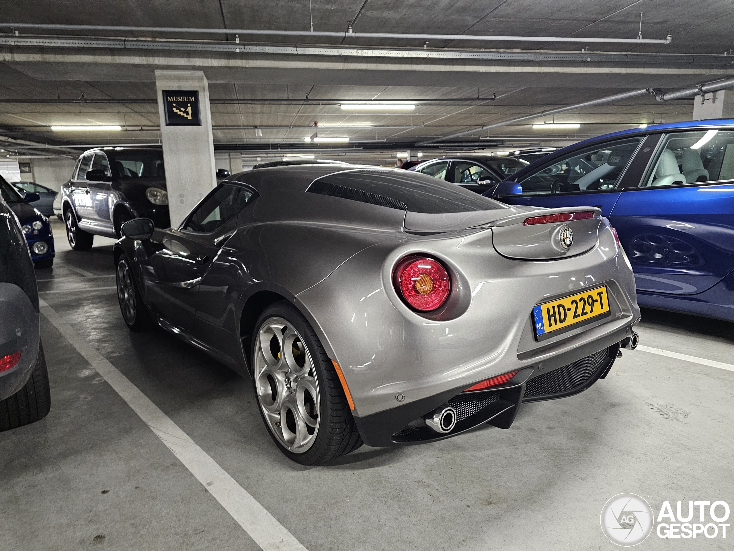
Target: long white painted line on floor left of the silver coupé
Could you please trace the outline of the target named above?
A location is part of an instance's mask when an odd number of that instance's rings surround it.
[[[167,445],[173,455],[203,484],[256,544],[266,551],[307,551],[274,516],[181,431],[137,386],[98,353],[57,311],[48,306],[46,301],[39,302],[41,312],[48,321],[102,375],[109,386],[156,433],[161,442]]]

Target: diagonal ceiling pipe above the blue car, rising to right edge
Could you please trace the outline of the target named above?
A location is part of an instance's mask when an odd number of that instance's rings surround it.
[[[521,123],[524,120],[531,120],[539,117],[547,117],[548,115],[556,115],[556,113],[563,113],[567,111],[573,111],[575,109],[582,109],[584,107],[592,107],[594,105],[608,104],[611,101],[622,100],[626,98],[634,98],[636,96],[644,96],[650,94],[654,96],[658,101],[671,101],[674,99],[689,98],[696,96],[697,94],[714,92],[716,90],[723,90],[724,88],[734,86],[734,79],[725,79],[715,82],[707,82],[705,84],[697,84],[683,90],[677,90],[675,92],[664,93],[660,88],[640,88],[639,90],[631,90],[630,92],[624,92],[621,94],[614,94],[612,96],[605,96],[603,98],[592,99],[591,101],[584,101],[581,104],[567,105],[565,107],[558,107],[549,111],[542,111],[539,113],[533,113],[532,115],[525,115],[524,117],[517,117],[510,120],[503,120],[501,123],[487,124],[480,128],[466,130],[464,132],[457,132],[456,134],[449,134],[448,136],[442,136],[434,138],[433,140],[425,140],[423,142],[416,143],[418,147],[429,145],[431,143],[443,142],[444,140],[451,140],[456,137],[466,136],[467,134],[474,134],[476,132],[482,132],[484,130],[490,130],[500,128],[501,126],[509,126],[511,124]]]

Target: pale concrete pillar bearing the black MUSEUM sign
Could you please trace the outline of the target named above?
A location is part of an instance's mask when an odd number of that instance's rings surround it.
[[[209,86],[202,71],[156,71],[161,117],[163,162],[171,227],[176,228],[199,201],[217,185],[214,140],[211,137]],[[163,92],[199,93],[200,125],[167,124]]]

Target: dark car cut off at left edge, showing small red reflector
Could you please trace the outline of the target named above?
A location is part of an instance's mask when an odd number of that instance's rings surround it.
[[[0,187],[0,431],[7,431],[46,417],[51,392],[33,262],[15,203],[5,200],[6,187],[15,188],[4,179]]]

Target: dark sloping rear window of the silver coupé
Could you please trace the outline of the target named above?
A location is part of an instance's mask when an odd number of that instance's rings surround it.
[[[503,208],[463,187],[407,170],[330,174],[313,181],[306,191],[427,215]]]

